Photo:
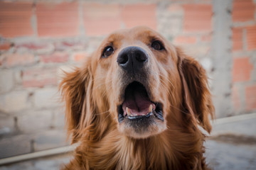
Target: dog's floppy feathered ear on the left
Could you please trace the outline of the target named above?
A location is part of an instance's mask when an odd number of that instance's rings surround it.
[[[92,76],[90,74],[90,60],[82,68],[75,68],[73,72],[65,72],[60,82],[60,91],[65,101],[65,120],[68,135],[72,135],[72,142],[77,142],[82,135],[82,129],[92,121],[91,89]]]

